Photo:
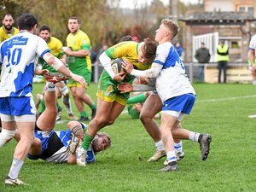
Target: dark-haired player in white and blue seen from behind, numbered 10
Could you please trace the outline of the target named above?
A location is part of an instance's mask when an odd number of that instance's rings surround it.
[[[18,20],[20,33],[0,44],[0,114],[2,132],[0,148],[20,131],[14,159],[5,183],[24,184],[18,178],[21,166],[33,142],[36,108],[32,99],[32,78],[37,56],[68,78],[85,84],[81,76],[71,73],[63,63],[49,53],[46,42],[36,36],[38,20],[34,15],[23,14]]]

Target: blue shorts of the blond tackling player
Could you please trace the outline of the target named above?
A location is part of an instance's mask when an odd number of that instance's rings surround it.
[[[196,96],[194,94],[184,94],[182,96],[172,97],[164,102],[163,111],[177,111],[189,114],[194,106]]]

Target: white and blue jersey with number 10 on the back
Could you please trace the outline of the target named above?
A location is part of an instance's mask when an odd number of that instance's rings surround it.
[[[0,44],[0,97],[32,96],[35,60],[49,48],[43,38],[20,32]]]

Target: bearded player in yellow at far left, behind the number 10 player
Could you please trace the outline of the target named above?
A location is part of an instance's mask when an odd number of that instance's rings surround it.
[[[0,27],[0,43],[20,32],[14,27],[15,20],[12,15],[4,15],[2,23],[3,26]]]

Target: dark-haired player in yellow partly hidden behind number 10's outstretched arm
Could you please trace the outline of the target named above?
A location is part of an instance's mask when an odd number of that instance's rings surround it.
[[[50,28],[49,26],[42,26],[39,29],[39,36],[41,38],[44,39],[44,41],[47,43],[48,47],[49,47],[49,51],[52,55],[55,55],[55,57],[61,59],[61,57],[64,55],[64,52],[62,50],[62,43],[58,38],[52,37],[50,36]],[[49,73],[57,73],[57,71],[50,67],[46,61],[44,61],[43,59],[40,60],[41,64],[42,64],[42,68],[43,69],[47,69],[49,71]],[[69,91],[67,88],[67,85],[63,82],[60,81],[58,83],[56,83],[56,96],[58,96],[58,98],[61,98],[61,96],[63,96],[63,103],[65,105],[65,108],[67,109],[67,114],[68,114],[68,118],[69,119],[75,119],[74,115],[73,115],[73,111],[72,111],[72,107],[71,107],[71,102],[69,99]],[[43,90],[44,92],[44,90]],[[41,102],[41,111],[39,111],[38,113],[43,113],[44,109],[45,109],[45,105],[44,105],[44,99],[42,99],[43,96],[37,95],[37,107],[38,107],[38,103]],[[58,117],[57,119],[61,119],[61,107],[59,106],[59,104],[57,104],[58,107]]]

